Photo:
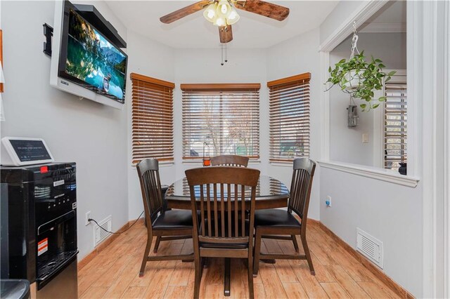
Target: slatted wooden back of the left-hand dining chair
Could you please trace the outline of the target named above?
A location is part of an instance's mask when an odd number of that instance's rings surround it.
[[[158,160],[143,159],[136,165],[136,168],[141,183],[146,223],[153,223],[158,213],[164,212]]]

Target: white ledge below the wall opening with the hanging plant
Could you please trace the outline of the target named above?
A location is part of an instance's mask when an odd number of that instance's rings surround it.
[[[391,182],[392,184],[402,185],[406,187],[415,188],[419,182],[419,178],[411,175],[401,175],[394,171],[387,169],[372,168],[370,166],[361,166],[356,164],[347,164],[335,161],[319,161],[319,165],[323,168],[333,169],[335,171],[342,171],[345,173],[352,173],[354,175],[365,176],[366,178],[373,178],[375,180],[383,180]]]

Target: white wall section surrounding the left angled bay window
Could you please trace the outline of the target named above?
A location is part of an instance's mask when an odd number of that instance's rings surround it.
[[[145,36],[128,31],[127,51],[129,55],[128,73],[143,74],[148,77],[174,82],[174,50],[168,46],[151,41]],[[131,91],[131,80],[127,84]],[[176,100],[174,107],[177,106]],[[134,220],[143,211],[141,187],[136,167],[131,165],[131,92],[127,93],[128,107],[128,218]],[[174,128],[176,132],[176,128]],[[161,184],[169,184],[174,179],[174,164],[160,164]]]

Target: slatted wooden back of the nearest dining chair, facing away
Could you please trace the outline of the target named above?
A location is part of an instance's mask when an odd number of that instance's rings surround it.
[[[255,221],[259,171],[243,167],[194,168],[186,171],[193,209],[194,239],[210,243],[249,241]],[[245,219],[245,198],[250,217]],[[197,211],[200,211],[198,221]]]

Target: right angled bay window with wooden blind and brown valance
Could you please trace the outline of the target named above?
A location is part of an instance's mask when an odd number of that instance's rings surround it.
[[[309,157],[309,80],[311,74],[270,81],[270,161]]]

